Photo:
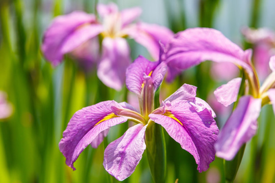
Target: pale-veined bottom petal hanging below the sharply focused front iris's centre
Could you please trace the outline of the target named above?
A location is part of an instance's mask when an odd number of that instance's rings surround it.
[[[129,177],[142,159],[146,148],[144,141],[146,126],[130,127],[120,138],[110,143],[104,151],[103,166],[118,180]]]

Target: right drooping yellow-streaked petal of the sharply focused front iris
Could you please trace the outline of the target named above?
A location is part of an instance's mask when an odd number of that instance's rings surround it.
[[[162,109],[149,117],[194,156],[199,172],[206,171],[215,159],[214,143],[218,134],[211,112],[207,109],[198,112],[185,100],[171,104],[167,101]]]

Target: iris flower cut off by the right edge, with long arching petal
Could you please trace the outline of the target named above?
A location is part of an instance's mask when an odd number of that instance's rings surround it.
[[[269,61],[272,73],[261,87],[251,56],[250,49],[242,50],[221,32],[211,28],[190,28],[178,33],[167,52],[168,64],[180,70],[205,60],[229,62],[243,69],[245,95],[240,97],[215,144],[216,156],[226,160],[232,160],[241,145],[256,134],[261,106],[272,103],[275,112],[275,56]],[[219,102],[228,106],[237,100],[240,85],[241,78],[235,78],[217,88],[214,94]]]

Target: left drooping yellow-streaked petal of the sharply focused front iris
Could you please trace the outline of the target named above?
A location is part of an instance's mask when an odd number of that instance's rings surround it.
[[[72,116],[59,143],[60,151],[66,157],[66,164],[69,167],[75,170],[73,163],[79,154],[101,132],[127,121],[126,117],[111,116],[99,123],[104,117],[113,113],[112,106],[122,107],[115,101],[105,101],[80,109]]]

